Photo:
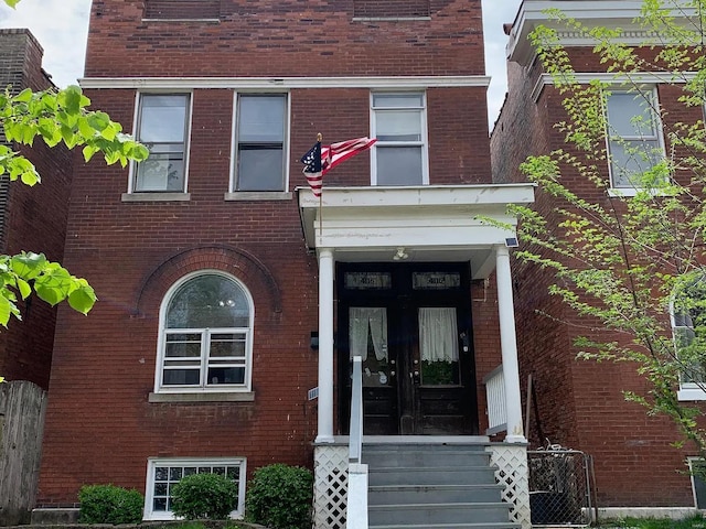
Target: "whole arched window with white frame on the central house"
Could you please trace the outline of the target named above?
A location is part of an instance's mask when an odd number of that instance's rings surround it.
[[[253,302],[234,278],[199,272],[160,311],[156,391],[249,390]]]

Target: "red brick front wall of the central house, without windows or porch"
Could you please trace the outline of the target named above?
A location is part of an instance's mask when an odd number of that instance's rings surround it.
[[[223,0],[217,22],[151,20],[161,17],[160,3],[168,2],[93,3],[87,84],[193,77],[203,86],[214,78],[266,77],[272,79],[271,91],[281,77],[484,73],[480,1],[431,0],[428,15],[373,20],[379,2],[356,1],[345,9],[335,2],[257,2],[253,12],[255,4]],[[189,3],[179,2],[183,18],[194,17]],[[354,17],[354,3],[365,10],[365,20]],[[370,134],[371,89],[310,84],[281,90],[290,102],[285,191],[291,195],[285,199],[224,198],[236,88],[191,91],[188,201],[125,201],[128,169],[99,161],[76,168],[64,262],[88,278],[99,301],[88,317],[60,310],[40,505],[73,505],[88,483],[145,490],[148,457],[235,455],[247,457],[248,473],[272,462],[311,466],[317,402],[307,391],[318,384],[317,352],[310,348],[310,334],[318,328],[318,263],[304,246],[293,192],[306,185],[299,158],[318,132],[324,142]],[[398,91],[426,93],[429,182],[490,183],[482,83],[425,88]],[[133,130],[137,93],[86,89],[93,105],[127,131]],[[332,187],[370,184],[367,155],[346,161],[325,181]],[[253,296],[254,401],[149,401],[160,305],[175,281],[199,270],[227,272]],[[480,380],[500,364],[494,295],[492,283],[472,289],[481,409]],[[484,421],[481,413],[481,430]]]

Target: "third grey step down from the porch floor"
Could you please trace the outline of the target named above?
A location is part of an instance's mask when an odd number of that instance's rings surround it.
[[[381,485],[368,488],[368,505],[499,501],[499,484]]]

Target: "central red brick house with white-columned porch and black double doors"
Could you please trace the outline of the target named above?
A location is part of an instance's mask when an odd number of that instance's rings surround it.
[[[169,519],[171,484],[218,472],[238,516],[284,462],[341,527],[361,356],[364,453],[490,447],[515,505],[481,516],[528,527],[514,231],[479,217],[533,188],[492,183],[488,83],[480,0],[95,1],[82,86],[151,154],[74,172],[64,264],[99,302],[60,309],[39,505],[113,483]],[[377,138],[321,201],[318,133]]]

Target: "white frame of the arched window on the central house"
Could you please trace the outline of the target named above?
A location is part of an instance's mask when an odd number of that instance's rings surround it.
[[[201,276],[221,276],[222,278],[235,282],[242,290],[245,296],[247,298],[247,302],[249,304],[249,327],[248,328],[179,328],[174,331],[170,331],[167,328],[167,310],[169,309],[169,304],[174,295],[174,293],[181,288],[183,284],[189,282],[192,279],[199,278]],[[167,294],[164,295],[160,311],[159,311],[159,339],[158,339],[158,352],[157,352],[157,366],[154,368],[154,393],[223,393],[223,392],[249,392],[252,387],[252,373],[253,373],[253,332],[255,327],[255,304],[253,303],[253,295],[249,290],[245,287],[245,284],[239,281],[237,278],[233,276],[222,272],[220,270],[199,270],[196,272],[189,273],[176,281],[169,289]],[[217,384],[210,385],[207,384],[206,376],[208,373],[208,355],[206,354],[208,350],[208,336],[211,334],[218,333],[227,333],[237,331],[238,333],[244,333],[246,336],[245,343],[245,379],[242,385],[229,385],[229,384]],[[183,386],[165,386],[162,384],[163,371],[164,371],[164,360],[165,360],[165,352],[167,352],[167,336],[168,334],[196,334],[202,333],[201,336],[201,364],[200,364],[200,385],[183,385]],[[239,363],[238,363],[239,364]]]

